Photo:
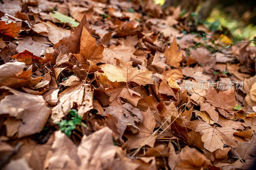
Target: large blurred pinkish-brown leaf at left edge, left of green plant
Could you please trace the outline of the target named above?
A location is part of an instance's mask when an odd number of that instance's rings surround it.
[[[18,128],[18,138],[39,133],[43,130],[51,114],[43,96],[30,95],[5,86],[1,90],[8,90],[12,95],[7,95],[0,101],[0,114],[9,114],[16,119],[22,119]]]

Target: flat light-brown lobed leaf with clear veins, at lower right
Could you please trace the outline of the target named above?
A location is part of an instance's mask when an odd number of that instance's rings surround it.
[[[233,133],[237,132],[232,127],[212,127],[209,124],[199,124],[196,127],[204,142],[204,148],[210,152],[217,149],[223,149],[223,145],[227,144],[231,147],[236,147],[237,142]]]

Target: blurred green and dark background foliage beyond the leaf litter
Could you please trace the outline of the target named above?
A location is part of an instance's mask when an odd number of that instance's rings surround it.
[[[155,0],[163,8],[181,6],[211,30],[229,31],[233,42],[256,37],[256,0]]]

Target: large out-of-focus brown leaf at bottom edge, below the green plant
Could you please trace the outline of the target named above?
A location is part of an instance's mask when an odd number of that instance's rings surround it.
[[[108,127],[84,136],[78,147],[60,131],[55,132],[54,138],[49,169],[108,169],[118,148],[113,145]]]

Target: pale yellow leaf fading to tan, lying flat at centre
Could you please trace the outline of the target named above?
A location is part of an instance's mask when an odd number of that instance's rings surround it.
[[[148,70],[138,70],[137,67],[132,67],[132,61],[127,63],[120,63],[120,66],[113,66],[111,64],[103,64],[100,66],[101,70],[108,76],[108,80],[114,82],[128,82],[132,81],[139,85],[152,84],[152,72]]]

